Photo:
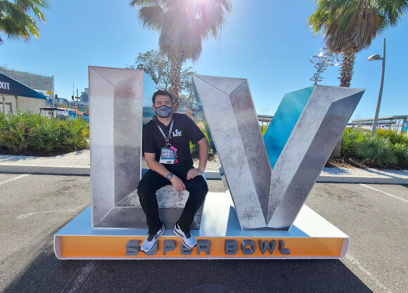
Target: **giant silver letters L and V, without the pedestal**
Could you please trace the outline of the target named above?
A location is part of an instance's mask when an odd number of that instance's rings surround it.
[[[311,86],[288,93],[262,138],[246,79],[193,81],[241,228],[288,230],[364,90]],[[89,67],[89,86],[92,227],[145,228],[135,190],[155,85],[141,70]],[[158,197],[167,228],[186,197],[171,188]],[[200,228],[201,212],[192,228]]]

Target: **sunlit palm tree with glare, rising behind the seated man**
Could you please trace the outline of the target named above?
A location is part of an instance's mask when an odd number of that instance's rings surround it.
[[[130,5],[140,7],[138,18],[144,27],[160,32],[159,47],[170,60],[170,93],[177,109],[181,65],[198,60],[203,39],[219,37],[231,1],[132,0]]]

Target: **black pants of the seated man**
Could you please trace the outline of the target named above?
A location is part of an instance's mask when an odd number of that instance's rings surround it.
[[[186,206],[184,207],[183,213],[179,219],[179,226],[183,231],[190,230],[194,216],[201,207],[201,204],[203,204],[205,195],[208,193],[208,185],[203,176],[196,176],[190,180],[187,180],[187,172],[191,168],[193,167],[167,167],[170,172],[175,174],[184,182],[184,185],[186,185],[186,190],[190,193],[189,199],[187,200]],[[141,178],[141,181],[137,186],[137,194],[139,195],[141,207],[146,214],[149,233],[157,233],[162,225],[159,218],[158,200],[155,193],[163,186],[171,184],[172,183],[169,180],[149,169]]]

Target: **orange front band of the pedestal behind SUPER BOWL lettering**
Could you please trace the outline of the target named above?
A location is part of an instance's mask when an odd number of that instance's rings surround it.
[[[155,255],[141,252],[140,246],[145,237],[141,236],[73,236],[58,235],[56,243],[60,245],[61,259],[274,259],[274,258],[338,258],[340,257],[343,238],[325,237],[196,237],[196,240],[210,242],[209,254],[202,247],[191,249],[191,254],[181,254],[181,241],[178,237],[160,237]],[[127,247],[132,241],[132,253]],[[137,244],[139,240],[139,244]],[[164,249],[165,240],[175,240],[174,250]],[[235,240],[234,254],[226,252],[226,240]],[[243,240],[252,240],[252,245],[242,246]],[[261,240],[262,244],[258,241]],[[263,249],[264,240],[269,244],[269,253]],[[272,240],[272,241],[271,241]],[[281,242],[279,242],[281,240]],[[136,245],[134,245],[136,243]],[[200,241],[198,241],[200,244]],[[274,244],[276,244],[274,246]],[[273,249],[272,249],[273,247]],[[208,248],[208,247],[207,247]],[[199,251],[198,251],[199,250]],[[228,250],[228,249],[227,249]],[[234,249],[233,249],[234,250]],[[131,255],[127,255],[131,254]],[[246,254],[244,254],[246,252]],[[132,255],[133,254],[133,255]]]

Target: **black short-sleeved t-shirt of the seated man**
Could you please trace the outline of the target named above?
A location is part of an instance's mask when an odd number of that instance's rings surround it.
[[[193,159],[190,154],[190,141],[197,143],[204,136],[198,126],[187,115],[174,113],[173,114],[173,129],[170,143],[174,148],[177,148],[177,157],[179,166],[192,165]],[[144,152],[155,153],[155,159],[159,162],[160,150],[165,146],[165,138],[158,129],[158,125],[167,136],[169,134],[171,122],[165,126],[158,119],[151,119],[143,129],[143,148]],[[174,165],[176,167],[177,165]]]

